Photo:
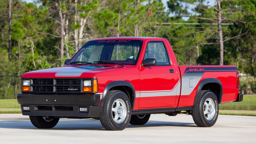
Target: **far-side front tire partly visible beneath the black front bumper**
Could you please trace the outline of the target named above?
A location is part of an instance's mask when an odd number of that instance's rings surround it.
[[[29,116],[29,118],[36,128],[53,128],[60,120],[59,118],[50,118],[49,116]]]

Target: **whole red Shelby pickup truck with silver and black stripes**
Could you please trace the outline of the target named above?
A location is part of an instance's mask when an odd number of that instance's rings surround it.
[[[107,130],[123,130],[146,124],[150,114],[184,112],[210,127],[219,104],[243,99],[236,66],[178,66],[163,38],[90,40],[65,64],[22,75],[17,100],[37,128],[95,118]]]

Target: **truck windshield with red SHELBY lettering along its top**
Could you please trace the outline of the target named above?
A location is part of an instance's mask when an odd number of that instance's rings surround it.
[[[135,65],[142,40],[95,40],[87,42],[70,60],[69,64],[113,62]]]

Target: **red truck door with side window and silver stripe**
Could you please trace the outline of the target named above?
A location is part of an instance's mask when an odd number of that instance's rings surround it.
[[[163,41],[148,42],[144,58],[155,58],[156,66],[140,68],[139,108],[172,107],[177,96],[178,78]]]

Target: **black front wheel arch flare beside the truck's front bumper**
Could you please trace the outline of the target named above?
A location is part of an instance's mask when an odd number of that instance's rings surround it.
[[[127,81],[113,81],[107,84],[107,86],[104,88],[103,94],[102,94],[102,100],[100,102],[100,111],[102,111],[103,103],[106,97],[106,94],[110,90],[121,90],[124,93],[127,94],[127,96],[130,98],[130,102],[132,105],[132,110],[134,108],[134,102],[135,102],[135,90],[134,86]]]

